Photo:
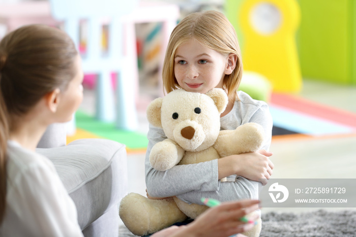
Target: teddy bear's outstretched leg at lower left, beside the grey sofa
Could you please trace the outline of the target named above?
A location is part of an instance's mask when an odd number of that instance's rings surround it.
[[[173,198],[153,200],[137,193],[130,193],[121,200],[119,214],[126,227],[139,236],[187,219]]]

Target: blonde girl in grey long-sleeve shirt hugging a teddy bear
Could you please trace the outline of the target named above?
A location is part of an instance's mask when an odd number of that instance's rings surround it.
[[[264,129],[265,141],[259,152],[158,171],[151,166],[149,155],[152,146],[166,137],[162,129],[150,125],[145,158],[147,197],[176,196],[197,204],[201,204],[202,197],[220,201],[258,199],[259,180],[270,179],[274,167],[268,158],[272,153],[266,152],[271,143],[272,117],[266,103],[237,91],[241,78],[242,60],[236,33],[222,13],[192,13],[174,28],[163,65],[167,93],[176,88],[198,93],[223,88],[229,102],[221,114],[221,129],[258,123]],[[232,182],[219,181],[230,175],[235,175]]]

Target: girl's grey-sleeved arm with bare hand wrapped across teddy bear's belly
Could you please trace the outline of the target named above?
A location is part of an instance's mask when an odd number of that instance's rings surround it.
[[[150,130],[152,129],[159,131],[158,128],[150,127]],[[163,131],[161,132],[163,134]],[[157,137],[158,133],[153,134],[156,134]],[[162,136],[160,139],[165,139],[165,137]],[[258,181],[261,178],[269,179],[270,173],[272,174],[272,162],[260,153],[233,155],[198,164],[176,165],[169,170],[158,171],[152,168],[149,161],[152,146],[153,141],[150,140],[145,160],[147,192],[152,197],[169,197],[192,191],[220,192],[219,188],[226,185],[225,182],[220,183],[219,180],[222,177],[238,174]],[[263,152],[261,153],[263,154]],[[241,190],[241,188],[249,186],[249,184],[244,184],[245,182],[249,183],[250,181],[243,179],[241,184],[232,184],[232,186]],[[241,193],[241,198],[252,196],[248,190],[246,192]]]

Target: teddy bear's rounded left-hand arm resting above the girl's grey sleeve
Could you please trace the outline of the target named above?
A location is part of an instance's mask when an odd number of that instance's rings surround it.
[[[164,171],[178,164],[184,155],[183,148],[171,139],[157,142],[150,153],[153,168]]]

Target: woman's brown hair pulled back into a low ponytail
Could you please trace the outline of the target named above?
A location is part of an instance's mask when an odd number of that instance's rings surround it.
[[[6,207],[6,147],[13,117],[26,114],[46,94],[65,91],[75,77],[77,50],[60,29],[28,25],[0,42],[0,223]]]

